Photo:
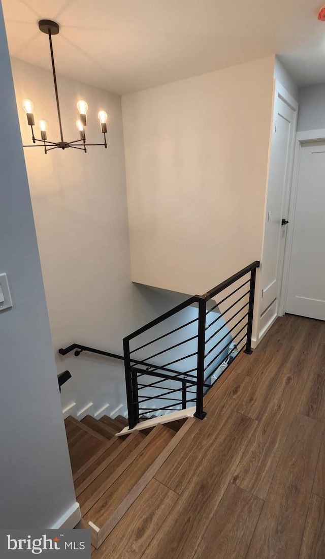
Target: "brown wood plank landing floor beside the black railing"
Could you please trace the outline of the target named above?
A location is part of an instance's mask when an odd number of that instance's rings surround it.
[[[286,315],[93,559],[325,558],[325,323]]]

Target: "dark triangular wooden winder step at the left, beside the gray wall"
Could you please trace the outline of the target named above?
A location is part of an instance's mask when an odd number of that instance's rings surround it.
[[[87,463],[92,456],[107,446],[107,439],[92,431],[80,421],[69,417],[65,421],[66,438],[72,472],[75,473]]]

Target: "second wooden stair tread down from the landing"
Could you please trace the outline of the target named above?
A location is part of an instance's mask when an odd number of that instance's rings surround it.
[[[107,456],[104,456],[104,453],[96,463],[76,480],[75,492],[83,513],[86,508],[84,505],[92,498],[94,492],[106,482],[144,439],[145,435],[142,435],[142,433],[131,433],[126,440],[119,441],[120,446],[114,447],[113,453],[109,453]]]

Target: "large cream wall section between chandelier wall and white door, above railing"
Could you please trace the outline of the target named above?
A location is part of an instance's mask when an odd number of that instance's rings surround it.
[[[260,259],[274,57],[122,98],[132,280],[204,293]]]

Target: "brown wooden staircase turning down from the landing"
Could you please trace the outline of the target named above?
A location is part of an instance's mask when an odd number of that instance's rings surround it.
[[[99,548],[195,420],[171,421],[117,436],[128,421],[104,415],[65,420],[82,527]]]

